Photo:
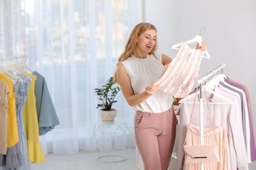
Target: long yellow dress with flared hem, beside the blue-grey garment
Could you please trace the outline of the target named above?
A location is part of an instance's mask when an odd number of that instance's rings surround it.
[[[36,76],[24,71],[25,75],[32,77],[30,87],[28,88],[28,96],[22,110],[24,128],[28,141],[28,160],[33,163],[41,163],[45,160],[45,154],[39,142],[39,127],[37,122],[37,110],[35,107],[35,80]]]

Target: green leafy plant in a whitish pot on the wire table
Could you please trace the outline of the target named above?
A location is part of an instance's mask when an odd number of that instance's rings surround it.
[[[113,103],[116,103],[115,97],[120,91],[119,86],[113,82],[113,77],[110,77],[101,88],[95,88],[95,93],[98,95],[100,103],[96,109],[98,110],[102,121],[114,121],[116,118],[116,109],[112,108]]]

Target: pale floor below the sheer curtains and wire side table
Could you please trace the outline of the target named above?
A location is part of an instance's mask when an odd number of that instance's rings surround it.
[[[128,152],[127,160],[116,163],[97,161],[94,152],[81,151],[77,154],[47,154],[46,162],[31,164],[31,170],[139,170],[136,167],[135,148]]]

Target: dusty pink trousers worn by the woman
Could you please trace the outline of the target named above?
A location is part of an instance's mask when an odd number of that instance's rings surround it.
[[[178,120],[171,109],[135,114],[135,140],[145,170],[168,169],[175,143]]]

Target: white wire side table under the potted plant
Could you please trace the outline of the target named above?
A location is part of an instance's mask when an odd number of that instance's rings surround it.
[[[130,132],[125,121],[98,122],[93,128],[93,151],[98,161],[127,160],[131,146]]]

